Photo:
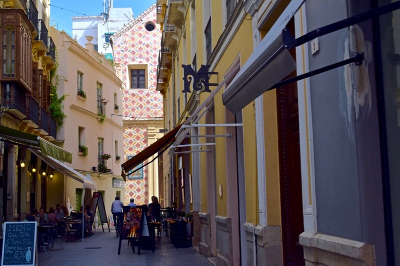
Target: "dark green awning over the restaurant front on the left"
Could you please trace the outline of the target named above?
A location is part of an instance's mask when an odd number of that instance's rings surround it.
[[[62,162],[72,162],[72,153],[40,138],[39,136],[0,125],[0,137],[16,145],[22,144],[35,149],[40,148],[43,154],[56,158]]]

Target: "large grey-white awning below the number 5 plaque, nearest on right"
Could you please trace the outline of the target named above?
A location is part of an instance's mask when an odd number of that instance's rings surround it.
[[[222,103],[232,113],[239,112],[296,69],[296,63],[284,45],[282,31],[304,1],[290,1],[223,92]]]

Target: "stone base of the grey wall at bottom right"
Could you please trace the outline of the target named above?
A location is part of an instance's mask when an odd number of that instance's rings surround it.
[[[306,266],[376,264],[374,246],[363,242],[306,232],[301,233],[299,242]]]

